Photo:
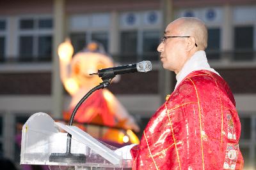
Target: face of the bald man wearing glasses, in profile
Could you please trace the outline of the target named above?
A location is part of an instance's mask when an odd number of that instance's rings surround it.
[[[172,22],[165,31],[164,36],[187,36],[179,31],[179,24]],[[161,53],[160,59],[164,69],[174,71],[176,74],[184,66],[187,60],[186,53],[187,38],[167,38],[157,47],[157,51]]]

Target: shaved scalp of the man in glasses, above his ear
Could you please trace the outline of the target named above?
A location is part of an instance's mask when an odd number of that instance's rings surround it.
[[[208,32],[204,22],[194,17],[182,17],[174,20],[172,23],[178,29],[180,34],[195,37],[198,50],[207,48]]]

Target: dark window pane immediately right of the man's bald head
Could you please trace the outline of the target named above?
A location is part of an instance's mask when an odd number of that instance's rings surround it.
[[[208,29],[207,59],[220,59],[220,28]]]

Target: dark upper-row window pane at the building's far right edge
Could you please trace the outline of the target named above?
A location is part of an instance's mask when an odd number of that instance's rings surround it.
[[[234,59],[253,59],[253,26],[237,26],[234,30]]]

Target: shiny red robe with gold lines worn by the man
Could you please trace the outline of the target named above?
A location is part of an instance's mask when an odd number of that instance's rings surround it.
[[[148,122],[132,169],[242,169],[240,132],[225,80],[193,71]]]

